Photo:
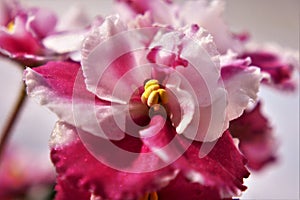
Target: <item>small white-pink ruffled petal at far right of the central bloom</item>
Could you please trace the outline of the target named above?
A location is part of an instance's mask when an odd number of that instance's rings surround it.
[[[223,57],[225,58],[225,57]],[[226,58],[228,59],[228,58]],[[256,101],[263,75],[259,68],[249,66],[250,59],[222,59],[222,81],[228,92],[227,118],[239,117],[250,101]]]

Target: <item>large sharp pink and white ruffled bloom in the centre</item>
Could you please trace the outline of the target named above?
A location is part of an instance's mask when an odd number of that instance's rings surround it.
[[[27,92],[55,112],[56,199],[222,199],[246,187],[246,160],[228,131],[262,75],[248,59],[221,76],[198,26],[95,25],[81,65],[25,71]],[[244,67],[247,66],[247,67]],[[185,192],[188,191],[188,192]]]

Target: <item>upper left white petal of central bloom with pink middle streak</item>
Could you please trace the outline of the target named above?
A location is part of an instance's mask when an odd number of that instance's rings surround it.
[[[148,32],[128,31],[117,16],[109,16],[95,27],[82,50],[88,90],[103,100],[128,103],[131,95],[151,78],[151,66],[139,65],[137,61],[145,54],[144,41],[138,38]]]

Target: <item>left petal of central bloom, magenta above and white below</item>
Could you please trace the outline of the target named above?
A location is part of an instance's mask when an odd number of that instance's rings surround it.
[[[116,113],[112,106],[86,90],[78,63],[49,62],[38,68],[28,68],[24,78],[28,95],[47,106],[61,120],[98,136],[124,137],[124,130],[113,120]]]

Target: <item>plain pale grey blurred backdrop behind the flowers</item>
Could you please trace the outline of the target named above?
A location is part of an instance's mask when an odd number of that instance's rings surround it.
[[[78,3],[91,16],[112,13],[108,0],[23,0],[62,15]],[[257,42],[276,42],[284,48],[299,49],[298,0],[227,0],[225,19],[233,31],[249,31]],[[0,127],[15,103],[22,84],[22,71],[13,63],[0,59]],[[264,114],[269,116],[280,143],[277,163],[252,173],[246,180],[248,190],[242,199],[299,199],[299,89],[282,93],[263,87],[259,93]],[[11,144],[49,161],[48,138],[56,116],[27,99],[13,129]]]

